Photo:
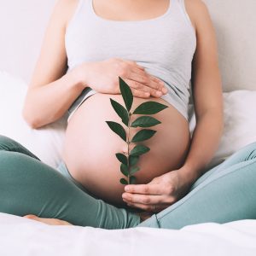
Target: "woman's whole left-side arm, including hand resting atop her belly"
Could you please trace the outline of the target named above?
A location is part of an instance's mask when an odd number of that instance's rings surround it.
[[[84,62],[66,73],[65,33],[77,4],[78,0],[59,0],[50,17],[22,111],[32,128],[61,118],[88,84],[98,92],[117,94],[121,76],[134,96],[160,97],[157,90],[167,92],[160,79],[146,73],[135,61],[113,58]]]

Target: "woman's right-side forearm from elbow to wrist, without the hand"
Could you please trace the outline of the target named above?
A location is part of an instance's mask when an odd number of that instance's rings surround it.
[[[223,113],[209,110],[204,113],[195,125],[189,154],[180,168],[184,178],[194,183],[203,174],[207,164],[212,160],[214,152],[223,132]]]

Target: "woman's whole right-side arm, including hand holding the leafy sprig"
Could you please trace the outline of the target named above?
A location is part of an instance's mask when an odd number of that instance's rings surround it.
[[[223,131],[222,84],[212,21],[201,0],[186,1],[186,8],[197,38],[192,74],[196,126],[181,168],[154,177],[148,184],[125,186],[123,200],[148,212],[160,212],[187,194],[212,159]]]

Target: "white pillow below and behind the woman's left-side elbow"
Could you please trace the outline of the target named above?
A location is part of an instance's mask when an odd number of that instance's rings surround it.
[[[52,167],[61,160],[61,148],[67,116],[44,128],[32,129],[21,115],[27,84],[24,80],[0,71],[0,134],[15,139]]]

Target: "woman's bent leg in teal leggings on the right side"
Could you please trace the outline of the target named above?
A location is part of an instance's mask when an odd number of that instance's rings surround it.
[[[181,229],[189,224],[256,218],[256,143],[202,175],[181,200],[138,227]]]

